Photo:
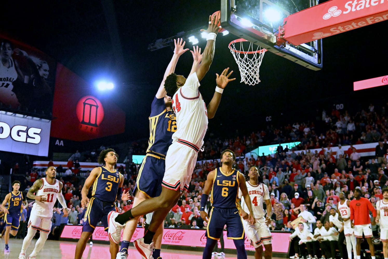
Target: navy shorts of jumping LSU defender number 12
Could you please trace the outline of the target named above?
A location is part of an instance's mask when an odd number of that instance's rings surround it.
[[[146,197],[158,197],[162,192],[166,160],[155,154],[146,154],[137,175],[134,194],[140,190]]]

